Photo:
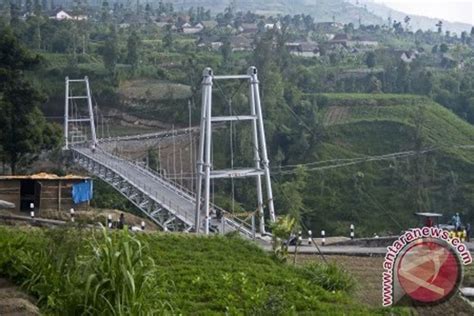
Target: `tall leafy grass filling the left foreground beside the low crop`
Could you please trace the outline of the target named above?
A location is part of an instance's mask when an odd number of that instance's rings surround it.
[[[28,235],[0,229],[0,272],[20,282],[47,314],[172,311],[157,298],[159,274],[144,254],[146,246],[127,231],[57,229]]]

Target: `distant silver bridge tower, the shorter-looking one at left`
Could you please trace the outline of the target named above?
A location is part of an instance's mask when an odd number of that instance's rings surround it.
[[[84,89],[78,89],[79,91],[85,91],[85,95],[73,95],[72,84],[79,86],[83,84]],[[76,100],[78,103],[76,104]],[[84,100],[86,104],[84,104]],[[80,116],[79,107],[87,107],[87,116]],[[92,107],[92,95],[89,86],[89,78],[86,76],[84,79],[69,79],[66,77],[66,98],[64,105],[64,149],[69,149],[69,145],[74,143],[84,143],[87,141],[87,135],[84,135],[78,128],[82,123],[89,123],[90,125],[90,137],[92,146],[97,145],[97,135],[95,131],[94,122],[94,110]],[[71,130],[72,129],[72,130]]]

